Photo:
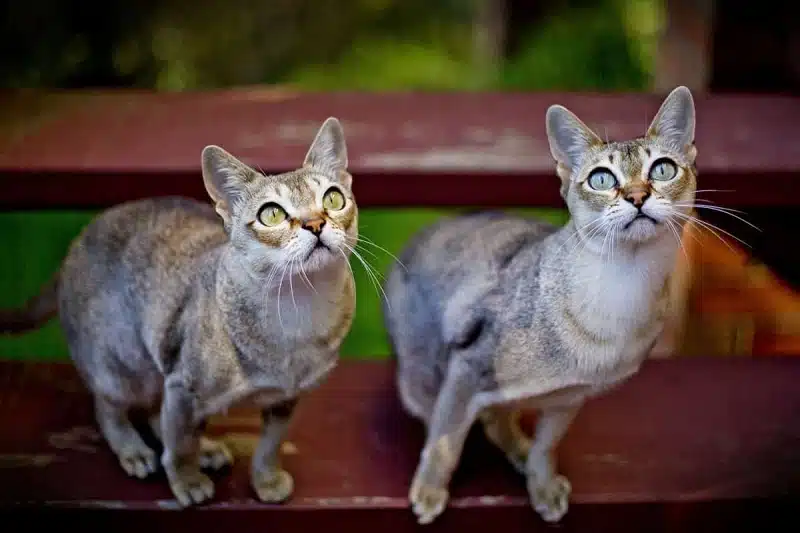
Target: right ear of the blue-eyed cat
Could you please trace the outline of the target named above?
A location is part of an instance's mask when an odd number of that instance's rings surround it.
[[[673,89],[647,128],[649,138],[658,138],[694,160],[694,99],[686,87]]]

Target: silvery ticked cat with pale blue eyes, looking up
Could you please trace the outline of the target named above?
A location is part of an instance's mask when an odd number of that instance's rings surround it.
[[[408,496],[421,524],[446,508],[476,420],[526,476],[533,508],[559,521],[571,485],[555,448],[587,399],[637,372],[668,312],[696,190],[690,91],[673,90],[633,140],[603,142],[559,105],[545,122],[566,225],[445,218],[413,236],[387,276],[398,393],[427,431]],[[521,408],[539,411],[532,439]]]

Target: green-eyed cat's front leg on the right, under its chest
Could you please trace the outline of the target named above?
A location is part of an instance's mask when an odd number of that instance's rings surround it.
[[[286,501],[294,490],[294,480],[281,468],[279,454],[295,405],[295,400],[289,400],[262,411],[264,425],[250,470],[253,489],[262,502]]]

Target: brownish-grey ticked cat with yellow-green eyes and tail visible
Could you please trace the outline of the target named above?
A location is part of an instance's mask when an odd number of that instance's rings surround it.
[[[0,329],[31,329],[57,312],[120,464],[138,478],[156,471],[129,419],[132,408],[149,410],[182,506],[213,497],[201,469],[232,461],[202,435],[204,420],[234,403],[259,407],[251,484],[260,500],[282,502],[294,488],[278,458],[293,408],[336,366],[355,311],[358,208],[344,132],[328,118],[302,168],[271,176],[207,146],[202,176],[213,207],[161,197],[101,213],[53,282],[5,311]]]

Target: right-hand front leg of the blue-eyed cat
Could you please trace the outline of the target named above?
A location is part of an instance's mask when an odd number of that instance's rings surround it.
[[[546,522],[558,522],[569,507],[572,486],[556,472],[555,449],[569,429],[579,405],[543,409],[525,462],[528,495]]]

